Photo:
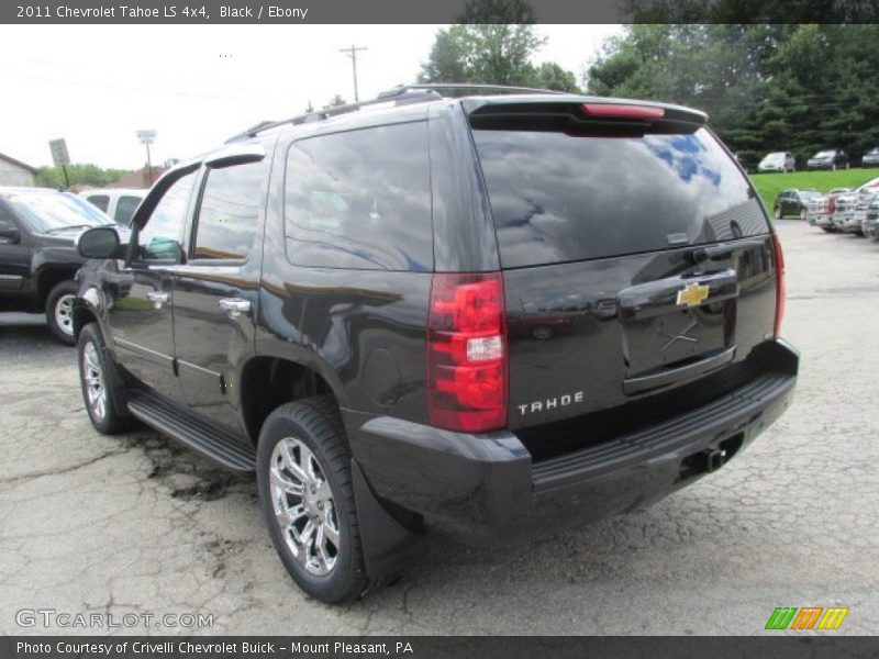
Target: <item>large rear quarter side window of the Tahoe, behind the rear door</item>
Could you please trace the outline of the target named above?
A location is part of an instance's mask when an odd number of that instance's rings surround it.
[[[287,254],[297,266],[433,268],[427,124],[321,135],[287,154]]]

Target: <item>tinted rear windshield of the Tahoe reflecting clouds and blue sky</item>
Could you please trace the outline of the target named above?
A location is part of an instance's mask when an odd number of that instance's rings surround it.
[[[475,130],[504,268],[765,234],[746,178],[705,129],[583,137]]]

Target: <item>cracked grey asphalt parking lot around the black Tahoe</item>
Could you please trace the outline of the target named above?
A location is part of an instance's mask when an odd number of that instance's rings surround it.
[[[500,545],[434,534],[393,587],[305,599],[249,478],[138,429],[98,435],[75,353],[0,314],[0,633],[16,612],[201,613],[213,634],[758,634],[776,606],[848,606],[879,629],[879,243],[779,231],[797,399],[719,473],[636,514]]]

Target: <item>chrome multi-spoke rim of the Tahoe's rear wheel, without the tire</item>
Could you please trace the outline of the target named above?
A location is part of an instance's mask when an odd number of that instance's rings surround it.
[[[275,445],[269,465],[275,520],[297,562],[308,572],[329,574],[342,547],[333,491],[321,463],[296,437]]]

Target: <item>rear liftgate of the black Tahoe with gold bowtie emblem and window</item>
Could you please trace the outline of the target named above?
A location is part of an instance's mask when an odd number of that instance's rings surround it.
[[[703,119],[492,104],[470,125],[507,300],[510,426],[622,407],[771,335],[763,206]]]

